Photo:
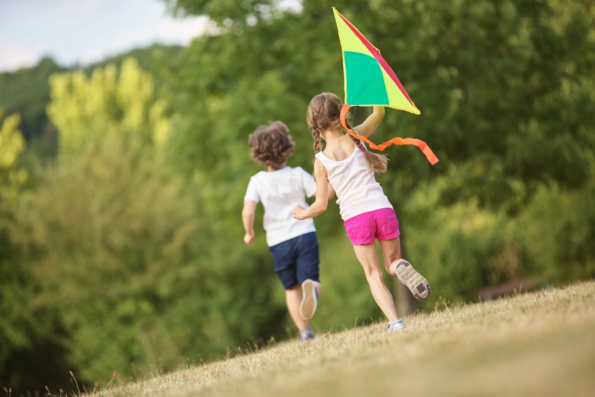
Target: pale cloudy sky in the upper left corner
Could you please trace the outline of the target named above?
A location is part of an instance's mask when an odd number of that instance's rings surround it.
[[[84,65],[155,42],[187,44],[207,24],[173,18],[159,0],[0,0],[0,72],[46,55]]]

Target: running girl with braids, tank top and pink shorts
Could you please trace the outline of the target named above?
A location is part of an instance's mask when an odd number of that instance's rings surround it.
[[[317,217],[327,209],[333,190],[347,236],[364,272],[374,300],[389,319],[389,332],[405,328],[394,306],[393,296],[384,285],[378,265],[375,240],[380,242],[384,267],[399,278],[415,298],[423,301],[430,296],[430,285],[408,261],[401,258],[399,221],[374,172],[383,173],[388,159],[367,151],[359,139],[343,132],[339,121],[342,101],[333,93],[324,92],[312,98],[306,118],[314,138],[314,177],[317,182],[316,201],[308,209],[296,205],[296,219]],[[372,114],[354,130],[370,136],[384,117],[383,107],[374,107]],[[347,127],[351,128],[349,125]],[[321,151],[320,139],[325,149]]]

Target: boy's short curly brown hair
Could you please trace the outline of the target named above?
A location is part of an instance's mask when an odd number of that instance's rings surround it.
[[[273,121],[266,126],[258,127],[248,137],[248,144],[252,148],[250,158],[274,170],[281,168],[287,158],[293,154],[293,142],[289,129],[281,121]]]

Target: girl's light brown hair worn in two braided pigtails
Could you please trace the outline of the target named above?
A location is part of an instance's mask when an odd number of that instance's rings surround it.
[[[308,105],[308,112],[306,112],[306,120],[308,121],[308,127],[314,138],[314,153],[318,153],[322,150],[320,144],[320,132],[321,130],[336,129],[341,126],[339,116],[341,114],[341,108],[343,107],[343,101],[339,99],[337,95],[331,92],[323,92],[310,101]],[[345,124],[350,129],[352,128],[349,124],[349,120],[345,120]],[[349,135],[358,149],[362,148],[361,140]],[[387,164],[389,159],[386,155],[372,153],[369,150],[364,152],[364,157],[368,164],[368,167],[377,173],[386,172]]]

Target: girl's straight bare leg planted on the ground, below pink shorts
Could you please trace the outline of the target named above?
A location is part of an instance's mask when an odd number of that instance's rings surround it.
[[[397,309],[394,307],[393,295],[389,289],[384,285],[382,271],[378,264],[378,257],[376,255],[376,244],[369,243],[364,245],[354,245],[353,250],[355,256],[358,257],[359,263],[362,264],[366,279],[374,296],[374,300],[380,307],[380,310],[386,315],[389,321],[399,320]]]

